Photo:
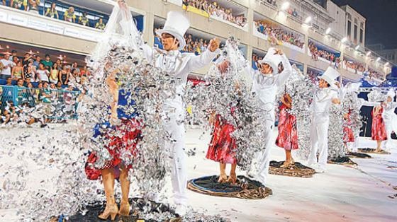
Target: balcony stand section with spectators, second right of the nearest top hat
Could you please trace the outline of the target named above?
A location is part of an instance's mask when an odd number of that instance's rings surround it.
[[[297,52],[305,52],[304,35],[272,21],[270,18],[254,13],[253,35],[269,41],[272,45],[283,45]]]

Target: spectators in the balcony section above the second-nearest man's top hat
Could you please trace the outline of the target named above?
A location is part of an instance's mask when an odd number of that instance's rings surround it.
[[[302,40],[302,36],[298,36],[296,33],[282,28],[273,28],[272,25],[267,24],[265,21],[255,21],[255,25],[257,31],[267,35],[273,45],[280,45],[279,41],[287,42],[301,49],[303,49],[303,46],[305,45]]]

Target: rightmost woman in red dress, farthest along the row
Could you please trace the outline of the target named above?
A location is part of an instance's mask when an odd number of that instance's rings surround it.
[[[386,127],[384,123],[384,118],[382,113],[384,112],[384,107],[378,105],[372,109],[372,128],[371,128],[371,138],[376,140],[376,150],[375,152],[381,152],[381,143],[387,139]]]

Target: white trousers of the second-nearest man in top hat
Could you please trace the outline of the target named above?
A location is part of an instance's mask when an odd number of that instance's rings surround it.
[[[266,185],[267,175],[269,175],[269,163],[270,163],[270,148],[273,146],[274,141],[272,140],[274,120],[265,120],[262,125],[262,134],[264,136],[264,149],[259,151],[257,156],[258,168],[256,180]]]

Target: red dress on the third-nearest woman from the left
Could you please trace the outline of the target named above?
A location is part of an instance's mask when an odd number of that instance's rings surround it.
[[[276,139],[276,146],[287,151],[298,149],[296,117],[288,113],[288,107],[284,103],[280,106],[279,136]]]

